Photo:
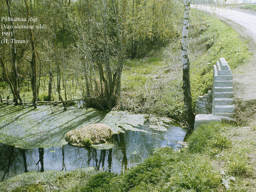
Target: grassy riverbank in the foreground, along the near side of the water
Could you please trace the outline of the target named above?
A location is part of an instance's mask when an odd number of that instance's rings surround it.
[[[155,149],[143,163],[121,175],[93,169],[30,172],[1,182],[0,190],[254,192],[255,134],[255,126],[208,124],[198,127],[180,151],[170,147]]]

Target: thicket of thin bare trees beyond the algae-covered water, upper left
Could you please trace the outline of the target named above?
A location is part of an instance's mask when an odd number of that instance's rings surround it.
[[[120,98],[124,60],[141,58],[179,36],[182,7],[178,0],[2,1],[0,18],[37,17],[23,25],[47,28],[3,30],[12,31],[8,38],[28,43],[1,44],[1,81],[9,84],[16,104],[22,104],[20,90],[29,90],[29,83],[36,108],[44,83],[48,94],[43,99],[52,101],[57,91],[64,108],[75,87],[86,106],[111,109]]]

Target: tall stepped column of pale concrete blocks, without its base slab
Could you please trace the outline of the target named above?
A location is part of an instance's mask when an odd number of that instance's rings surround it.
[[[220,58],[214,67],[213,108],[214,115],[234,117],[233,74],[224,58]]]

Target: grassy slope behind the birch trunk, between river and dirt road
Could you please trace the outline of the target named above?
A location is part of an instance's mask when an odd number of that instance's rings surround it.
[[[249,55],[246,42],[239,38],[238,33],[216,18],[192,10],[191,21],[190,74],[195,104],[198,96],[211,89],[212,65],[220,57],[226,58],[233,70],[245,63]],[[207,45],[212,45],[209,50],[206,50]],[[179,41],[174,41],[156,56],[126,62],[119,109],[183,119]]]

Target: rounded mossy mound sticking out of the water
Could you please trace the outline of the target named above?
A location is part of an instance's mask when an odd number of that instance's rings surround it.
[[[84,147],[107,142],[113,134],[105,124],[90,124],[66,133],[66,140],[76,147]]]

